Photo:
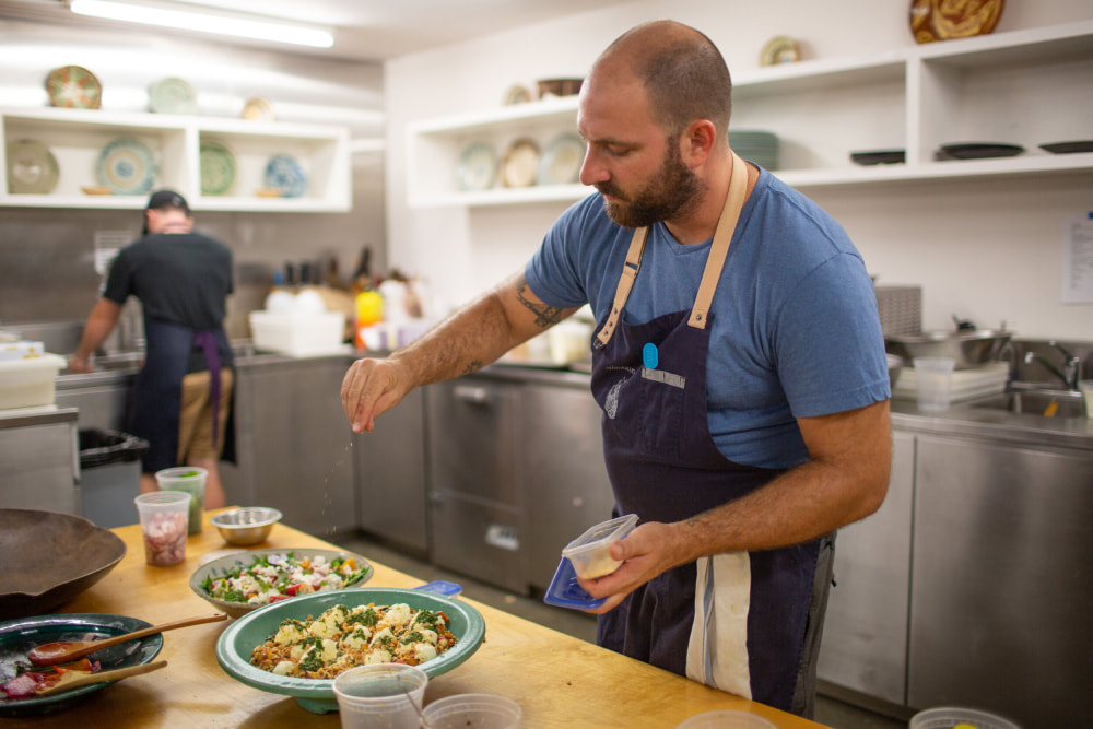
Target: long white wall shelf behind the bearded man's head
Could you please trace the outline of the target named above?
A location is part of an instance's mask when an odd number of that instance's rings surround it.
[[[408,128],[412,207],[577,200],[581,185],[463,191],[455,171],[472,142],[502,158],[516,139],[540,144],[576,128],[577,98],[549,98]],[[819,59],[734,74],[733,130],[779,138],[778,177],[796,187],[1093,172],[1093,153],[1041,144],[1093,140],[1093,22]],[[1012,157],[936,161],[943,144],[1004,143]],[[904,150],[906,162],[860,166],[851,152]]]

